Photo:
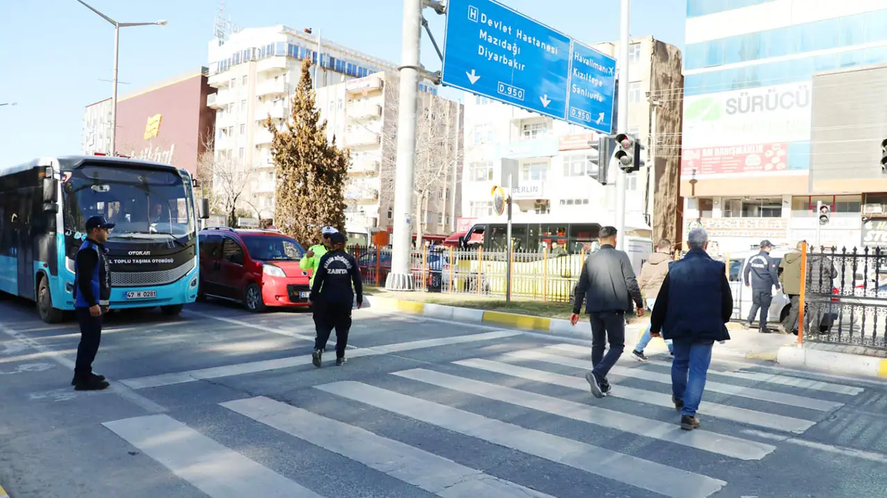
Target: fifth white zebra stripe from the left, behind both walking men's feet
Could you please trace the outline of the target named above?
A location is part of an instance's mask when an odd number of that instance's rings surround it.
[[[554,385],[562,385],[577,391],[588,391],[588,383],[584,379],[570,376],[554,374],[544,370],[535,368],[519,367],[517,365],[509,365],[499,361],[470,359],[453,361],[456,365],[463,367],[478,368],[488,372],[494,372],[502,375],[511,375],[513,377],[530,380],[533,382],[550,383]],[[610,391],[607,395],[609,398],[621,398],[655,405],[658,407],[674,408],[671,402],[671,395],[664,392],[646,391],[643,389],[634,389],[632,387],[620,385]],[[787,431],[801,433],[810,429],[815,422],[794,418],[784,415],[773,415],[764,412],[757,412],[741,407],[731,407],[729,405],[718,405],[708,401],[703,403],[701,415],[710,415],[724,420],[732,420],[739,423],[750,423],[767,429],[777,431]]]

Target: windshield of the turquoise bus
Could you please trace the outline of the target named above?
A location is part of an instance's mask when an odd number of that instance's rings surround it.
[[[62,178],[68,233],[83,233],[86,220],[102,215],[115,224],[112,238],[127,233],[194,233],[190,184],[176,171],[86,164]]]

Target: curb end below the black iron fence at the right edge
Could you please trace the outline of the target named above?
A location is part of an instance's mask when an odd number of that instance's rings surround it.
[[[776,362],[787,367],[813,368],[835,374],[887,378],[887,360],[876,356],[791,345],[779,349]]]

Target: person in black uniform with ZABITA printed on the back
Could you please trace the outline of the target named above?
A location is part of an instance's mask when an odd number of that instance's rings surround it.
[[[345,252],[345,236],[330,235],[331,248],[318,262],[318,273],[311,284],[310,302],[315,306],[317,337],[311,363],[320,368],[326,341],[335,328],[335,364],[345,364],[345,346],[351,328],[351,304],[357,294],[357,308],[364,304],[364,285],[360,279],[357,259]],[[353,290],[351,286],[354,286]]]

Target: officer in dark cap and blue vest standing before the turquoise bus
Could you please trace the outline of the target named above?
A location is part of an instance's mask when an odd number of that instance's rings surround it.
[[[103,216],[86,220],[87,238],[77,251],[75,272],[75,312],[80,323],[80,344],[71,385],[77,391],[100,391],[110,385],[104,375],[92,373],[98,344],[102,338],[102,317],[111,298],[111,268],[106,257],[105,242],[114,228]]]

